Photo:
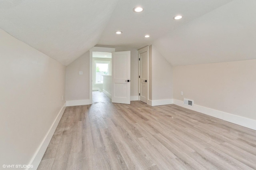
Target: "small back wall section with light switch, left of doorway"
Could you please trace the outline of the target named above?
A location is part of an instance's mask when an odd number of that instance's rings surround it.
[[[87,51],[66,68],[66,101],[89,99],[89,59]],[[83,71],[83,75],[79,75]]]

